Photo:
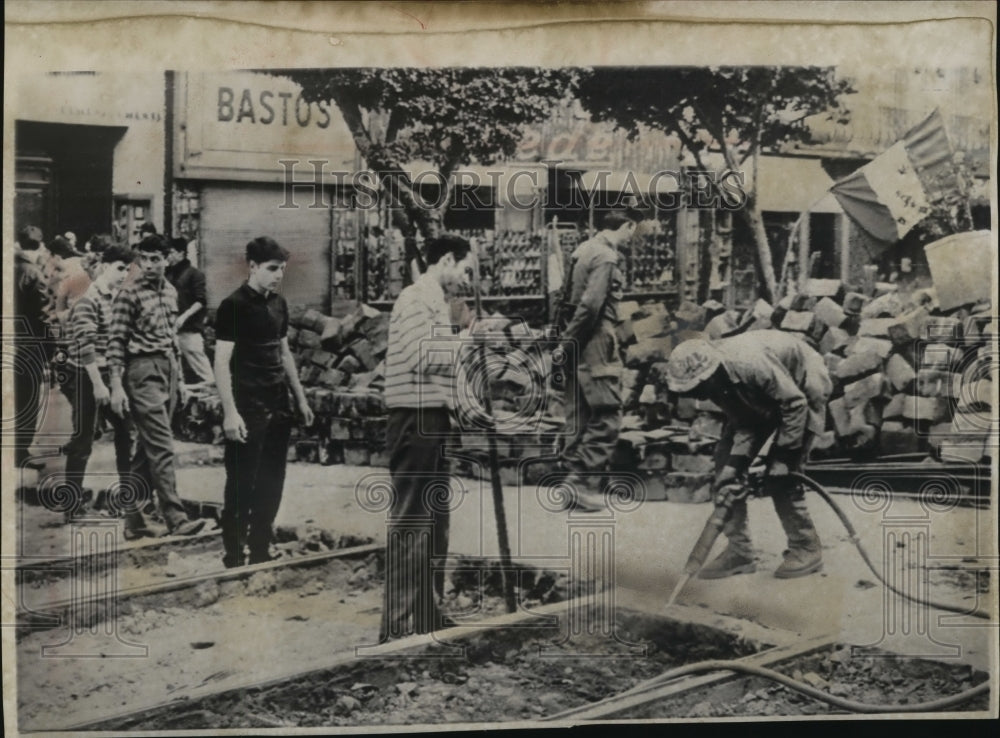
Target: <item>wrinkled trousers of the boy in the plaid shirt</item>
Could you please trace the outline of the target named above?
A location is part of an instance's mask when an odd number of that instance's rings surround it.
[[[173,531],[187,520],[184,504],[177,496],[170,426],[177,402],[177,367],[165,354],[134,356],[128,360],[123,379],[136,430],[133,481],[142,487],[131,490],[129,499],[137,500],[139,509],[126,516],[125,524],[130,528],[145,525],[142,507],[156,490],[160,512]]]

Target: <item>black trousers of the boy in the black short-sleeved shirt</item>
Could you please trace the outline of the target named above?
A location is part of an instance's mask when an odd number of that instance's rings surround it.
[[[243,563],[244,547],[250,549],[251,564],[269,558],[292,432],[287,394],[282,385],[262,395],[236,397],[247,440],[226,441],[225,445],[226,488],[220,523],[227,566]]]

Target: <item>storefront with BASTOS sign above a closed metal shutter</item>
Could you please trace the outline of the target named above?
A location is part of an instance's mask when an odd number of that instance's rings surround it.
[[[174,77],[172,223],[196,243],[215,307],[246,276],[245,248],[287,248],[293,303],[329,310],[355,298],[363,214],[346,196],[358,170],[336,109],[307,103],[291,80],[251,72]]]

